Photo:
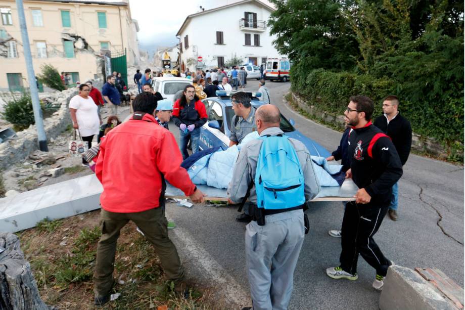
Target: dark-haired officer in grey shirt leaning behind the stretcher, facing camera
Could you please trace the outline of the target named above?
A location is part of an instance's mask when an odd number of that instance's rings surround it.
[[[255,108],[250,103],[250,97],[244,92],[238,92],[231,96],[231,103],[232,110],[234,110],[236,115],[232,117],[229,146],[241,143],[245,136],[257,130],[255,125]],[[252,219],[250,208],[251,205],[247,203],[244,206],[244,213],[238,215],[236,220],[238,222],[249,223]]]

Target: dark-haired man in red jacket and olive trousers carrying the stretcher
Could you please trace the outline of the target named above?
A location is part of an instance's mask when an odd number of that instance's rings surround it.
[[[175,290],[184,293],[184,270],[167,232],[165,179],[193,202],[204,202],[204,194],[180,167],[182,157],[173,134],[155,120],[155,96],[137,95],[132,106],[136,111],[132,117],[102,140],[96,163],[95,172],[104,189],[100,197],[102,237],[94,273],[96,305],[110,300],[116,242],[129,220],[153,244]]]

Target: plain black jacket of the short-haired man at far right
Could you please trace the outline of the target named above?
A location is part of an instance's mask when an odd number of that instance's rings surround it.
[[[378,116],[373,124],[392,139],[392,143],[399,154],[400,162],[402,166],[405,165],[412,147],[412,127],[410,122],[399,112],[389,124],[384,115]]]

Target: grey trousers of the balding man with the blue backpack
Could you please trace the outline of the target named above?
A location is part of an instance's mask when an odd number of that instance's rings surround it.
[[[246,226],[246,264],[254,310],[286,310],[304,241],[303,210],[266,215]]]

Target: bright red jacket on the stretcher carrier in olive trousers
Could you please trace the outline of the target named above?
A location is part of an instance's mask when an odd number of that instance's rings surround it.
[[[192,195],[195,185],[180,166],[182,156],[173,134],[153,115],[132,117],[108,132],[100,145],[95,172],[103,185],[102,208],[117,213],[157,208],[162,174],[186,196]]]

